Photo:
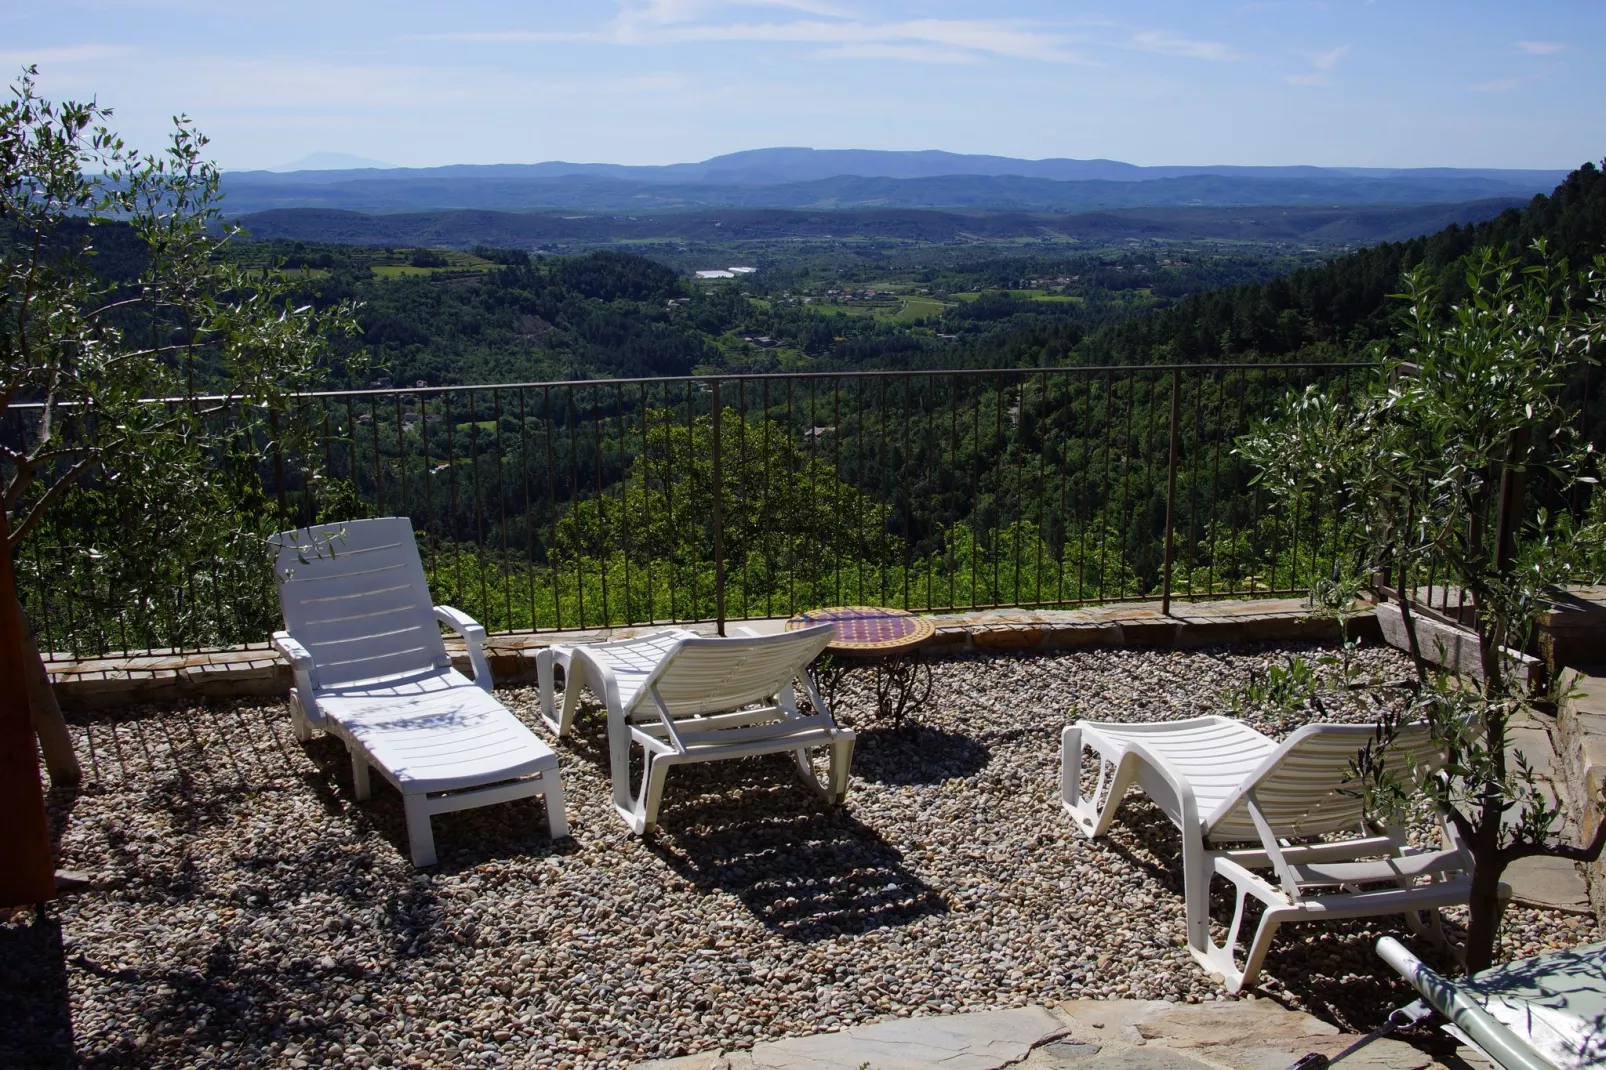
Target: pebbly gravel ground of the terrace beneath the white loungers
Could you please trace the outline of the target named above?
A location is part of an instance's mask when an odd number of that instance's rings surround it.
[[[400,797],[374,778],[353,803],[340,744],[299,744],[283,704],[85,715],[88,782],[53,821],[95,885],[0,925],[0,1065],[613,1067],[887,1015],[1222,998],[1182,946],[1171,824],[1134,802],[1108,842],[1073,834],[1058,733],[1222,710],[1294,649],[940,660],[914,729],[861,726],[846,808],[782,758],[681,768],[649,842],[612,811],[591,717],[559,747],[572,840],[530,800],[446,815],[426,872]],[[499,696],[538,723],[532,689]],[[866,709],[846,686],[843,720]],[[1285,929],[1261,994],[1372,1028],[1407,1001],[1372,954],[1389,927]],[[1595,938],[1513,908],[1502,953]]]

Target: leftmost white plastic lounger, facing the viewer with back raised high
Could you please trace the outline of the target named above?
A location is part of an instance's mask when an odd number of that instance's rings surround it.
[[[485,628],[430,606],[411,521],[326,524],[268,545],[296,736],[344,741],[360,800],[369,766],[402,792],[414,866],[435,863],[429,819],[453,810],[541,795],[552,839],[569,835],[557,755],[488,694]],[[472,681],[451,667],[440,623],[463,635]]]

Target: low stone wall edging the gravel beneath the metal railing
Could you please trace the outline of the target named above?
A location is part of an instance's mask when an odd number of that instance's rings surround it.
[[[1078,647],[1200,647],[1261,641],[1331,639],[1335,623],[1315,615],[1304,599],[1266,598],[1217,602],[1172,602],[1171,615],[1160,602],[1121,602],[1074,611],[988,611],[931,614],[933,652],[1039,651]],[[1351,619],[1351,631],[1378,638],[1372,612]],[[742,622],[758,631],[779,631],[782,619]],[[711,622],[679,625],[713,635]],[[731,625],[732,628],[736,625]],[[552,643],[596,643],[650,630],[599,628],[593,631],[544,631],[493,635],[487,660],[498,686],[535,683],[535,655]],[[729,630],[729,628],[728,628]],[[461,641],[446,643],[459,670],[467,672]],[[96,659],[51,659],[51,681],[63,709],[85,710],[135,702],[188,702],[196,699],[276,697],[289,691],[289,665],[271,649],[215,649],[198,654],[140,654]]]

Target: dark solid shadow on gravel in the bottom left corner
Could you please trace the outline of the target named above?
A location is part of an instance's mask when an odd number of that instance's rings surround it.
[[[77,1065],[61,922],[47,909],[32,921],[0,924],[0,1065]]]

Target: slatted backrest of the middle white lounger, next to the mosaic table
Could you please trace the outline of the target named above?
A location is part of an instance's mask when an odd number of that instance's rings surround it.
[[[681,639],[642,684],[628,713],[636,720],[657,718],[652,689],[671,717],[726,713],[766,702],[790,688],[835,635],[835,625],[824,623],[781,635]]]

